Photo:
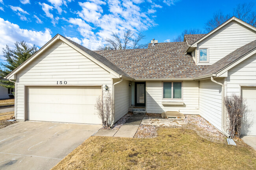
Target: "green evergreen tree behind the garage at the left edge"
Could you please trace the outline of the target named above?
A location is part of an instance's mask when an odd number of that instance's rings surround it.
[[[4,58],[7,64],[1,62],[0,77],[6,77],[11,71],[20,66],[24,61],[30,58],[37,51],[35,44],[28,46],[25,41],[15,42],[15,49],[3,48]],[[14,88],[15,84],[9,80],[0,79],[0,86],[5,88]]]

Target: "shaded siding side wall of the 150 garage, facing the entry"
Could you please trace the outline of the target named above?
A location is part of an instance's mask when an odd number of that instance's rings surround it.
[[[128,113],[129,107],[130,107],[129,81],[123,80],[121,83],[115,85],[115,122],[118,121],[121,117],[123,117],[126,113]]]

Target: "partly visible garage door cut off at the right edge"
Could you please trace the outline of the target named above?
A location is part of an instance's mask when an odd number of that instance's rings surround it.
[[[242,87],[241,95],[246,99],[249,109],[243,117],[241,134],[256,136],[256,87]]]

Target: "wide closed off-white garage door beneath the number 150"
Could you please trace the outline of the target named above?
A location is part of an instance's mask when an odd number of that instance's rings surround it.
[[[31,86],[28,120],[101,124],[95,110],[101,86]]]

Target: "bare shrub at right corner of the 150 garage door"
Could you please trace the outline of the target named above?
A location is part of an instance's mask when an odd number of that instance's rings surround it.
[[[102,121],[102,125],[104,127],[109,126],[109,119],[111,119],[112,111],[113,111],[113,99],[112,95],[108,94],[104,96],[100,95],[96,99],[95,108],[98,112],[98,117]]]

